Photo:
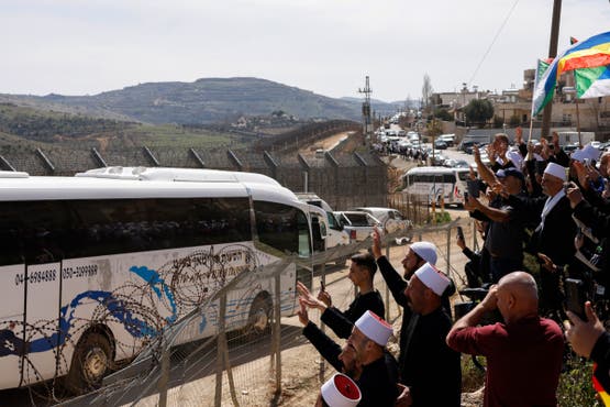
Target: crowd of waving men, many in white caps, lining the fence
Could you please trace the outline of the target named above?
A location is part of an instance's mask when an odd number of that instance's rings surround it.
[[[485,406],[556,406],[556,391],[569,348],[597,362],[596,377],[610,391],[610,334],[590,301],[576,315],[565,307],[566,284],[578,282],[600,298],[607,296],[610,231],[610,152],[591,145],[567,155],[558,138],[514,146],[497,134],[487,147],[489,165],[474,148],[477,172],[465,209],[477,220],[484,244],[470,251],[468,285],[485,286],[487,296],[453,321],[451,279],[435,266],[432,242],[415,242],[402,260],[402,275],[381,253],[374,233],[370,253],[352,258],[350,279],[359,293],[347,310],[332,307],[330,294],[318,296],[299,285],[303,333],[343,376],[322,386],[324,406],[459,406],[461,353],[487,360]],[[479,196],[474,191],[480,191]],[[535,266],[524,265],[525,253]],[[381,296],[373,285],[381,273],[403,308],[398,360],[387,351],[392,327],[384,321]],[[342,345],[309,320],[308,309],[322,311]],[[496,312],[500,322],[484,324]],[[567,322],[569,320],[569,322]],[[353,388],[355,393],[350,393]]]

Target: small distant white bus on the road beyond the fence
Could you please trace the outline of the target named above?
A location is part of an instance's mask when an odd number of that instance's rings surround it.
[[[440,204],[443,197],[445,205],[462,205],[468,174],[469,168],[411,168],[403,177],[402,191],[429,204]]]

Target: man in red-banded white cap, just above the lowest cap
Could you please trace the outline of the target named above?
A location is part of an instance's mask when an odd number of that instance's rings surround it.
[[[362,373],[356,380],[363,393],[358,406],[393,407],[398,396],[397,381],[388,370],[385,349],[392,327],[371,311],[366,311],[354,324],[347,345],[356,351]]]

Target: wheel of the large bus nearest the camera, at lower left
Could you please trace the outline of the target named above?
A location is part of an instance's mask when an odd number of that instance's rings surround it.
[[[99,388],[111,363],[112,348],[108,338],[98,332],[86,333],[74,352],[66,388],[74,394]]]

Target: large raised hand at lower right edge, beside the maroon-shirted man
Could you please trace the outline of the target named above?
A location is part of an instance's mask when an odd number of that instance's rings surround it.
[[[594,311],[590,301],[585,302],[585,312],[587,314],[587,321],[581,320],[574,312],[567,311],[572,324],[565,321],[564,328],[566,339],[572,344],[574,352],[589,358],[597,340],[606,332],[606,329],[603,329],[603,324]]]

